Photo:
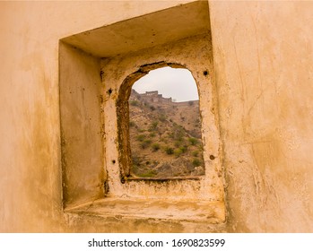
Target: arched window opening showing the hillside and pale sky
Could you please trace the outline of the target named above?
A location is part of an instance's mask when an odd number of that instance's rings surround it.
[[[204,175],[199,96],[190,71],[154,69],[134,82],[128,102],[129,177]]]

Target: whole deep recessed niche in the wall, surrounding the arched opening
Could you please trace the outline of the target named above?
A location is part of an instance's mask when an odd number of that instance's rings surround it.
[[[207,2],[61,39],[59,60],[65,212],[225,221]],[[185,67],[196,80],[204,151],[204,175],[196,179],[127,178],[128,85],[162,66]]]

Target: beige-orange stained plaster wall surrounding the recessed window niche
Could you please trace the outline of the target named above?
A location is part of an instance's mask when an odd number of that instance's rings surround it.
[[[64,218],[58,39],[178,3],[0,3],[0,231],[169,228]],[[312,11],[210,2],[230,231],[313,231]]]

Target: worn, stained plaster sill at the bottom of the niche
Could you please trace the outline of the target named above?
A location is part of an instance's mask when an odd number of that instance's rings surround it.
[[[67,213],[94,215],[103,218],[159,219],[168,221],[225,221],[223,202],[164,201],[157,199],[104,198],[65,209]]]

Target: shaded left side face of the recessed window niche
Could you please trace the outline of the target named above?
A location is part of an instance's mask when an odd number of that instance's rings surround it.
[[[64,206],[104,196],[100,59],[59,46],[59,88]]]

